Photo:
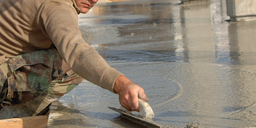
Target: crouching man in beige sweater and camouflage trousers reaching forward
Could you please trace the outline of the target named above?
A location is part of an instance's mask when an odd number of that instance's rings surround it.
[[[32,112],[26,116],[41,115],[83,78],[119,94],[120,104],[130,111],[139,111],[138,98],[148,101],[139,85],[82,39],[78,14],[96,2],[0,0],[1,108],[14,105]]]

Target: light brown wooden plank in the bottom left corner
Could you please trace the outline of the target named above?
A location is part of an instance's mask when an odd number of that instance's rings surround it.
[[[22,117],[0,120],[1,128],[46,128],[48,116]]]

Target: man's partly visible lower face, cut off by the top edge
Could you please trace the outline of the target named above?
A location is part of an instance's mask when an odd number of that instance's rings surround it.
[[[87,13],[98,0],[75,0],[76,6],[80,9],[81,13]]]

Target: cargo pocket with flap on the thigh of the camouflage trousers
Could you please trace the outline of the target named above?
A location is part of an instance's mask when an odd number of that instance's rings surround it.
[[[56,50],[39,50],[9,59],[6,102],[19,104],[47,91]]]

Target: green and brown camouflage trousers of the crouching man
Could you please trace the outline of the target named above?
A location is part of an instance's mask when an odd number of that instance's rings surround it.
[[[0,109],[22,104],[38,115],[67,94],[83,78],[75,74],[56,49],[21,54],[0,65]]]

